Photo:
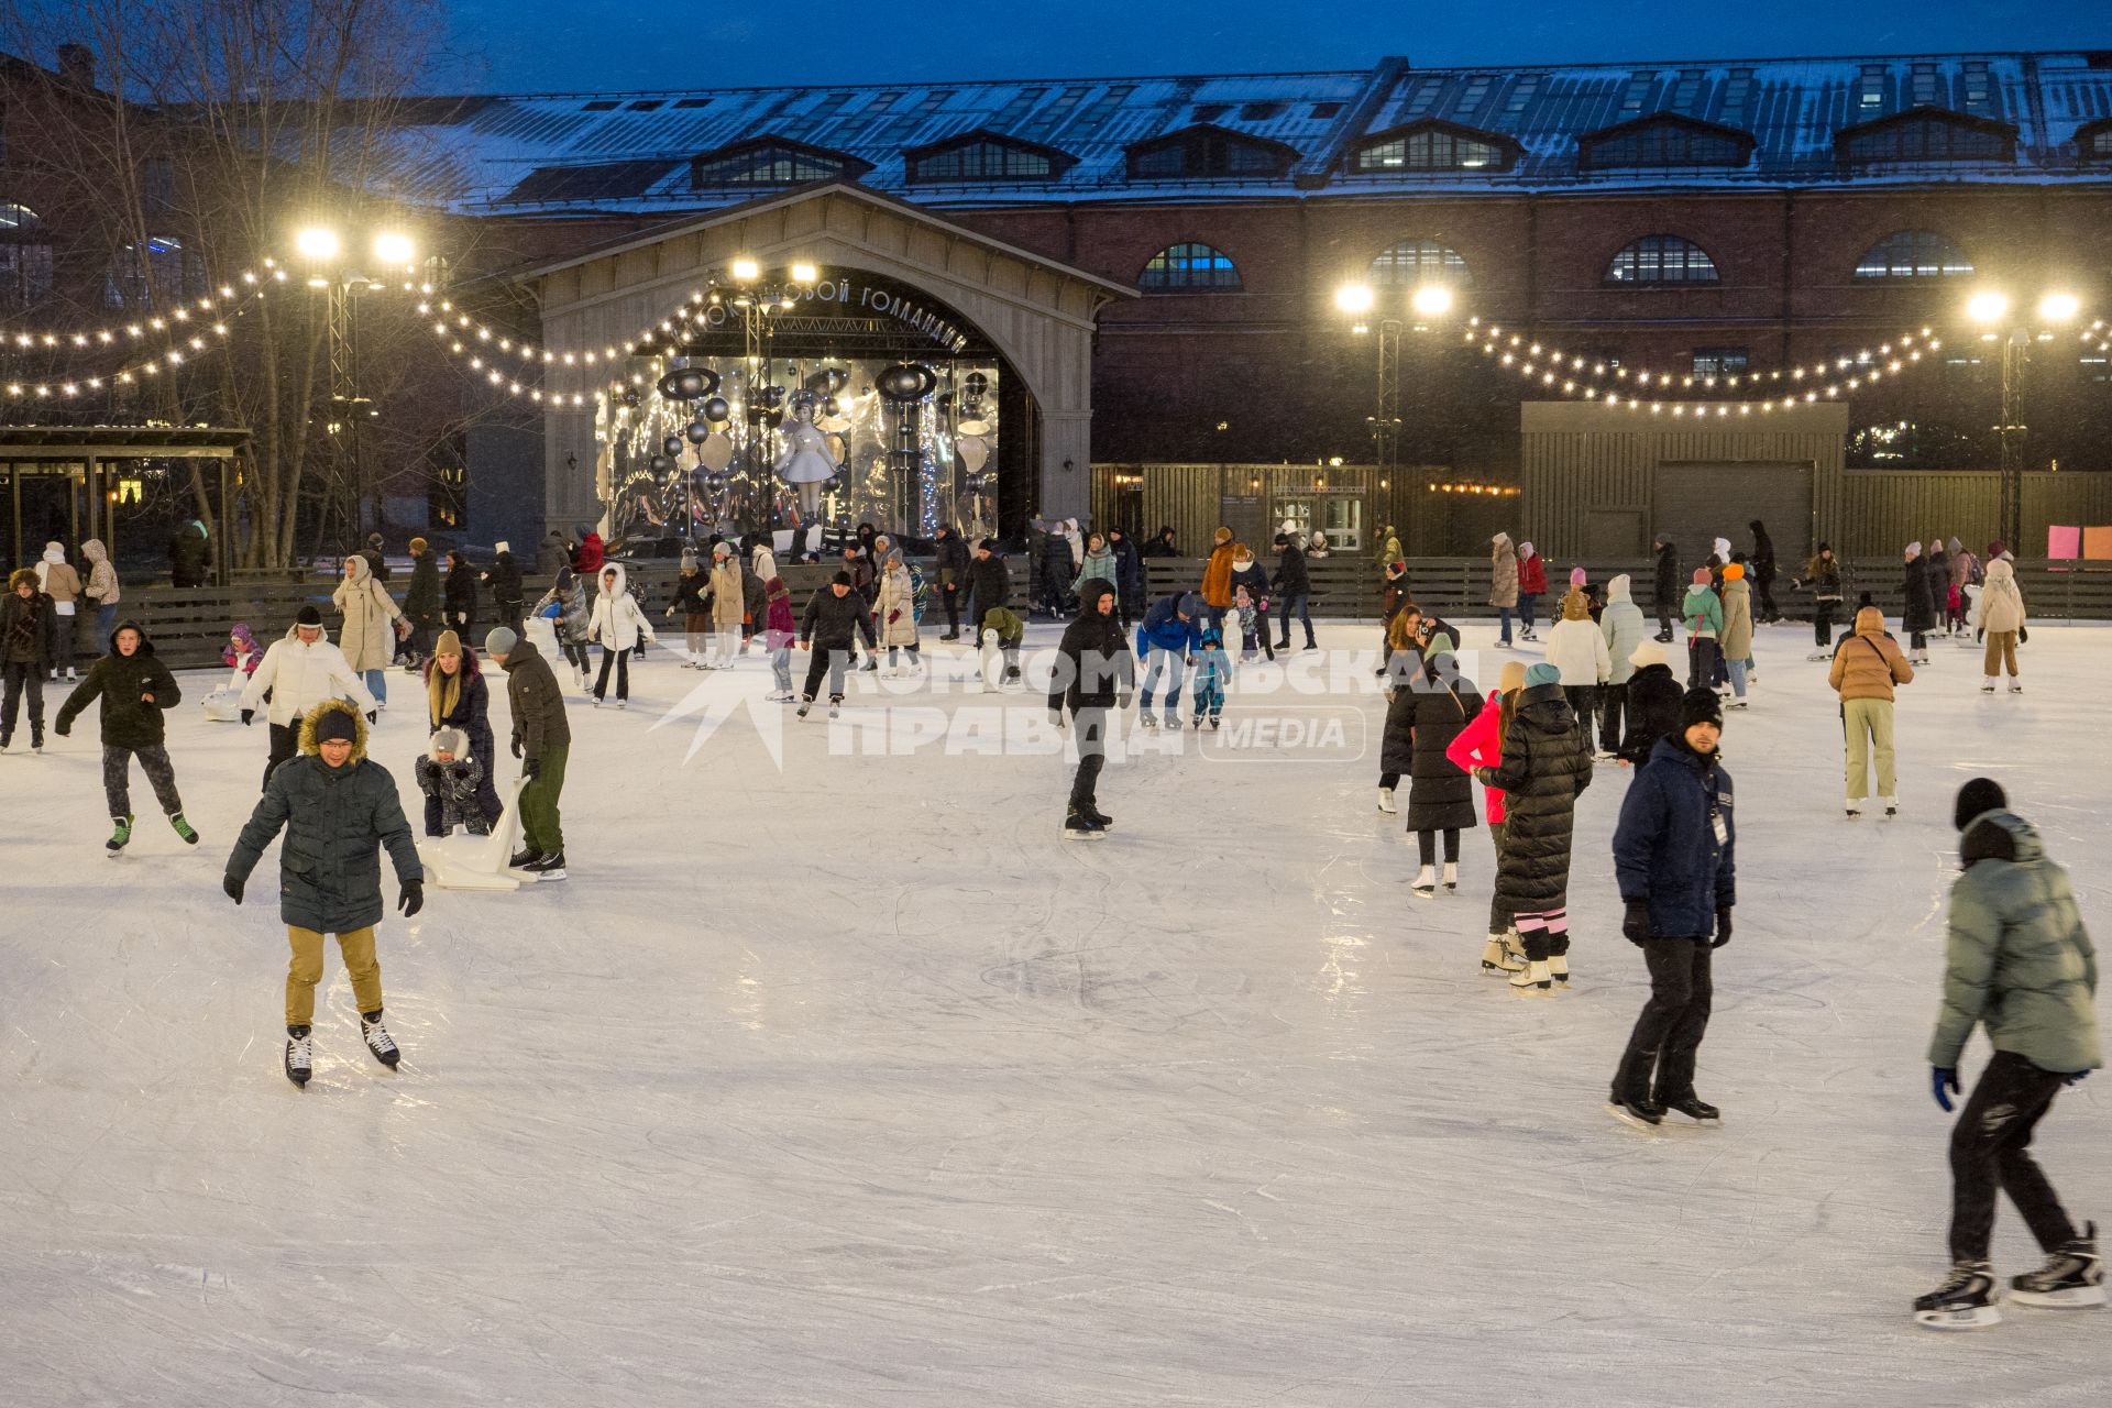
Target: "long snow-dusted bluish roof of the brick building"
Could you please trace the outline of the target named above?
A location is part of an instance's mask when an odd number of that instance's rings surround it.
[[[2015,129],[2015,158],[1856,167],[1835,135],[1937,110]],[[1050,78],[1035,82],[526,93],[446,99],[403,129],[433,154],[465,213],[708,209],[817,179],[800,163],[838,154],[862,184],[921,205],[1217,201],[1301,192],[1603,192],[1624,188],[1827,186],[1894,182],[2106,184],[2112,167],[2076,150],[2076,129],[2112,118],[2112,53],[1726,59],[1582,68],[1413,68],[1364,72]],[[1736,167],[1582,169],[1578,137],[1652,114],[1751,133]],[[1514,141],[1506,169],[1352,173],[1369,135],[1445,120]],[[1979,125],[1985,129],[1985,125]],[[1297,152],[1280,175],[1170,179],[1130,148],[1223,129]],[[986,131],[1054,148],[1045,179],[912,179],[906,152]],[[769,167],[727,184],[699,156],[784,144]],[[765,150],[760,160],[769,163]],[[822,177],[834,173],[822,173]],[[929,175],[929,171],[925,173]],[[796,179],[792,179],[796,177]]]

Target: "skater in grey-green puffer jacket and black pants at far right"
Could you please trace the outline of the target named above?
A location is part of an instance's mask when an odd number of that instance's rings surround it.
[[[1951,884],[1943,1007],[1928,1043],[1937,1104],[1951,1108],[1975,1026],[1987,1028],[1994,1060],[1951,1127],[1951,1275],[1913,1302],[1913,1317],[1932,1330],[1975,1330],[2002,1319],[1987,1264],[1996,1188],[2047,1254],[2038,1271],[2011,1277],[2011,1298],[2053,1309],[2106,1302],[2097,1224],[2078,1233],[2032,1159],[2032,1131],[2053,1098],[2104,1066],[2104,1053],[2097,952],[2068,872],[2047,859],[2038,832],[1990,777],[1958,789],[1951,821],[1964,874]]]

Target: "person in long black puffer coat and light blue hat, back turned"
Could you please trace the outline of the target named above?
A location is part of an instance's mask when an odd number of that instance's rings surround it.
[[[1569,982],[1569,849],[1590,773],[1559,671],[1533,665],[1504,730],[1504,760],[1474,770],[1483,785],[1504,789],[1495,903],[1514,916],[1525,948],[1527,963],[1510,979],[1519,990]]]

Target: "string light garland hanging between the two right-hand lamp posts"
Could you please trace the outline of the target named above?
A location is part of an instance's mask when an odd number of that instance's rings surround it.
[[[1747,372],[1742,376],[1685,376],[1675,378],[1664,372],[1635,372],[1630,367],[1620,367],[1603,357],[1580,357],[1576,353],[1565,353],[1557,346],[1546,346],[1542,342],[1531,342],[1523,334],[1504,334],[1495,323],[1483,325],[1481,319],[1468,319],[1468,329],[1464,334],[1468,344],[1478,342],[1485,357],[1493,357],[1500,367],[1516,372],[1527,382],[1561,391],[1565,397],[1582,397],[1586,401],[1599,401],[1603,405],[1622,405],[1628,410],[1649,410],[1649,414],[1660,416],[1666,410],[1673,416],[1751,416],[1757,405],[1761,414],[1772,414],[1776,410],[1793,410],[1797,405],[1812,405],[1818,401],[1837,401],[1842,393],[1859,391],[1865,384],[1875,384],[1888,374],[1897,376],[1907,367],[1920,363],[1928,353],[1943,346],[1943,340],[1932,336],[1932,329],[1922,327],[1913,334],[1901,334],[1892,342],[1880,344],[1875,350],[1865,348],[1854,357],[1837,357],[1833,361],[1816,361],[1808,365],[1789,367],[1787,372]],[[1840,372],[1850,372],[1852,376],[1840,378]],[[1827,380],[1831,378],[1831,380]],[[1704,388],[1736,388],[1740,382],[1753,388],[1761,386],[1787,386],[1787,395],[1766,395],[1759,401],[1685,401],[1677,395],[1666,401],[1662,395],[1652,397],[1652,388],[1671,391],[1673,382],[1681,388],[1702,384]],[[1626,382],[1626,386],[1607,384]],[[1643,391],[1645,395],[1637,395]]]

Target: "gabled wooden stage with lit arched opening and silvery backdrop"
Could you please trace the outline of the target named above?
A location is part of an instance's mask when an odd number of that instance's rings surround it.
[[[830,521],[1010,534],[1088,513],[1092,329],[1121,285],[841,184],[528,279],[545,344],[600,353],[549,367],[585,405],[545,414],[545,464],[566,467],[545,477],[545,521],[784,528],[796,509],[769,471],[788,416],[843,464]],[[661,395],[682,369],[708,395]]]

